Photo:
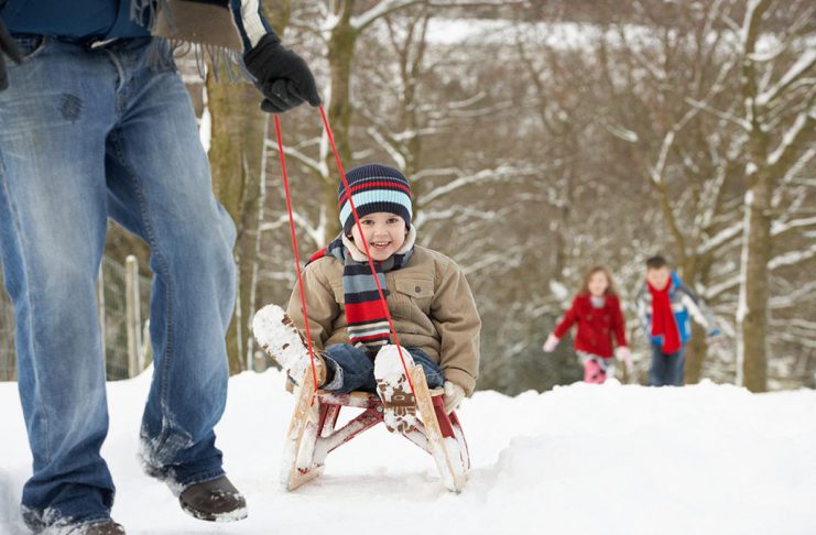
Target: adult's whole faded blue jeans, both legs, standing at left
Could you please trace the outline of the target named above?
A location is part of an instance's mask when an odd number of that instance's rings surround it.
[[[111,218],[151,248],[154,372],[141,428],[154,476],[220,477],[235,226],[216,201],[179,75],[149,39],[90,48],[18,40],[0,92],[0,252],[17,316],[33,476],[26,523],[108,518],[115,488],[95,284]]]

